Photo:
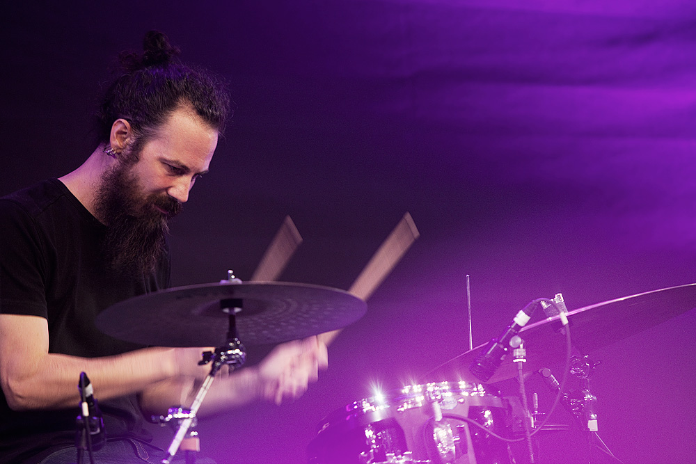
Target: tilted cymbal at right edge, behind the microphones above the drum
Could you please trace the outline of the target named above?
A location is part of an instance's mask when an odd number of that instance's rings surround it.
[[[696,284],[679,285],[666,289],[646,291],[615,300],[596,303],[568,312],[571,339],[574,346],[587,353],[618,342],[696,308]],[[565,359],[565,335],[556,333],[558,316],[532,323],[520,330],[519,336],[527,350],[525,371],[535,371],[555,365]],[[560,323],[560,322],[559,322]],[[484,350],[486,344],[444,362],[422,376],[427,381],[480,382],[469,371],[469,365]],[[503,360],[488,383],[516,377],[517,366],[512,362],[512,351]]]

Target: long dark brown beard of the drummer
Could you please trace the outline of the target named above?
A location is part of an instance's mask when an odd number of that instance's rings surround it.
[[[124,162],[104,173],[95,214],[106,224],[102,253],[109,269],[143,275],[155,271],[166,253],[168,219],[179,213],[181,204],[166,194],[143,198],[132,166]]]

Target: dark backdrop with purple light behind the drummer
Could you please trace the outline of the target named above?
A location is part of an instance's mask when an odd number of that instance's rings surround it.
[[[160,29],[237,105],[173,225],[175,285],[250,278],[288,214],[304,243],[280,280],[343,289],[405,211],[420,230],[304,397],[200,426],[221,464],[304,463],[324,415],[466,351],[467,274],[475,345],[533,298],[573,310],[696,281],[696,4],[14,3],[0,193],[88,157],[114,56]],[[615,323],[590,353],[601,436],[625,463],[696,462],[696,314],[621,341]],[[536,377],[528,391],[548,409]],[[548,435],[546,457],[587,462],[583,440]]]

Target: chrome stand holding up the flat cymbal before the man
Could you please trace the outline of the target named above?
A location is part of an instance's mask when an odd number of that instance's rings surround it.
[[[242,301],[232,299],[221,300],[220,307],[223,312],[230,315],[230,328],[227,334],[227,344],[216,348],[214,353],[212,351],[206,351],[203,353],[203,360],[198,362],[199,365],[205,365],[212,362],[210,372],[205,377],[203,384],[200,385],[198,393],[196,393],[196,398],[193,399],[193,403],[191,403],[191,409],[188,411],[188,416],[181,421],[179,429],[174,435],[171,445],[169,445],[169,448],[167,449],[168,456],[161,461],[161,464],[170,464],[172,458],[179,450],[182,441],[187,436],[189,428],[193,425],[193,421],[196,419],[196,413],[198,413],[198,409],[203,403],[203,399],[210,389],[210,385],[212,385],[213,381],[215,380],[215,374],[217,374],[223,365],[229,365],[230,368],[234,370],[242,367],[246,361],[246,349],[237,337],[237,324],[235,321],[235,314],[241,311],[240,308],[242,307]]]

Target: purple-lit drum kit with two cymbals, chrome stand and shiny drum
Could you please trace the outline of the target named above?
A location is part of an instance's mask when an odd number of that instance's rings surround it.
[[[143,307],[148,308],[143,311]],[[592,351],[639,333],[696,307],[696,284],[681,285],[617,298],[565,314],[555,314],[519,330],[528,346],[543,346],[525,355],[525,369],[541,371],[562,360],[569,327],[574,346]],[[97,318],[106,334],[129,342],[161,346],[216,346],[206,362],[210,374],[200,387],[190,410],[170,411],[179,428],[168,456],[169,463],[190,435],[205,392],[223,365],[244,364],[244,345],[275,344],[328,333],[360,319],[367,306],[348,291],[285,282],[239,282],[234,278],[209,285],[168,289],[132,298],[110,307]],[[568,326],[560,326],[566,318]],[[139,321],[133,323],[132,321]],[[514,378],[519,362],[506,355],[486,383],[468,371],[486,346],[477,346],[425,374],[424,383],[360,399],[326,416],[308,446],[310,464],[416,464],[514,463],[508,442],[515,438],[510,423],[511,406],[491,384]],[[512,351],[517,351],[510,349]],[[590,376],[592,362],[575,357],[571,373]],[[457,379],[454,381],[453,379]],[[553,382],[549,380],[553,387]],[[555,388],[564,406],[592,432],[592,406],[596,398],[585,382],[583,394],[570,397]],[[526,408],[525,408],[526,409]],[[532,428],[543,427],[531,413]],[[596,415],[594,416],[596,424]],[[585,421],[585,422],[583,422]],[[536,424],[535,424],[536,422]],[[596,431],[596,429],[594,430]],[[533,458],[532,458],[533,459]],[[617,460],[618,461],[618,460]],[[618,461],[620,462],[620,461]]]

